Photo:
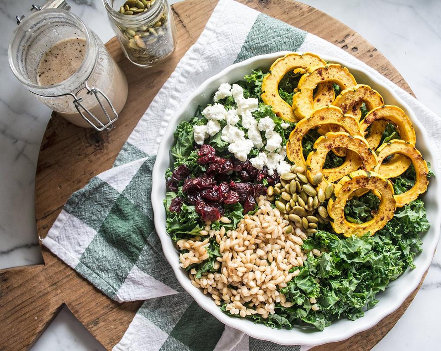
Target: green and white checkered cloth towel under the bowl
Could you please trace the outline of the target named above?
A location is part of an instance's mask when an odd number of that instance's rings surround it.
[[[253,339],[224,326],[199,307],[179,285],[163,256],[150,201],[158,144],[188,94],[230,64],[282,50],[339,57],[365,68],[407,102],[431,140],[439,138],[441,119],[366,64],[312,34],[232,0],[220,0],[200,38],[153,99],[112,169],[71,196],[42,241],[110,298],[146,300],[114,351],[309,348]]]

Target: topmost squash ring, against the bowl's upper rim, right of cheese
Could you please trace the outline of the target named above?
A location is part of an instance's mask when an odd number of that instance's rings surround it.
[[[265,104],[272,106],[274,113],[285,121],[298,121],[292,111],[292,106],[289,106],[279,95],[280,80],[288,72],[294,71],[298,68],[303,72],[314,67],[323,67],[326,62],[317,55],[312,53],[288,53],[284,57],[280,57],[269,68],[269,74],[265,76],[262,81],[262,100]],[[322,87],[323,91],[327,91]]]

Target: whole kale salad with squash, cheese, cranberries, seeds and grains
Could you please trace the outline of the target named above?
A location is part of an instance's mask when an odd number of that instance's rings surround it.
[[[430,226],[408,117],[314,54],[230,83],[174,134],[164,206],[180,266],[224,313],[271,328],[363,317]]]

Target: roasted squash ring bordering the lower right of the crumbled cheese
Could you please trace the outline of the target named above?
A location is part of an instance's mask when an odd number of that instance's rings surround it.
[[[311,117],[297,123],[289,135],[289,141],[286,144],[288,159],[298,166],[306,166],[306,160],[303,157],[303,137],[311,129],[328,124],[339,125],[351,135],[362,136],[355,117],[344,115],[341,113],[341,109],[336,106],[326,106],[316,110]]]

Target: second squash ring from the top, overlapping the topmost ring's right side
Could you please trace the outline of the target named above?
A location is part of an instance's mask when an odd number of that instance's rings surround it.
[[[325,82],[336,83],[342,89],[354,87],[357,84],[348,68],[340,64],[328,64],[302,75],[297,86],[299,91],[292,98],[292,109],[297,119],[309,117],[314,109],[317,109],[318,106],[314,106],[314,88],[319,83]],[[327,103],[323,102],[322,106],[326,105]]]

